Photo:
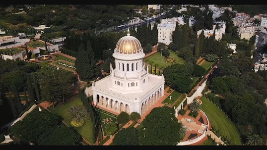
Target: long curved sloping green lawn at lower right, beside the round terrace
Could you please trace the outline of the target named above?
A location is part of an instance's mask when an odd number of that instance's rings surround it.
[[[211,126],[218,131],[218,137],[224,137],[232,146],[242,145],[240,134],[230,118],[205,97],[201,97],[200,100],[202,100],[201,110],[205,112]]]

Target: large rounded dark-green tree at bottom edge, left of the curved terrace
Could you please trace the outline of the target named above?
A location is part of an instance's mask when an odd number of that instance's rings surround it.
[[[167,106],[153,108],[138,131],[140,145],[177,145],[183,137],[180,137],[180,125],[174,113],[174,109]]]

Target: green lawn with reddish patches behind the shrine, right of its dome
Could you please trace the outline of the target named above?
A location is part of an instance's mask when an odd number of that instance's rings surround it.
[[[185,60],[181,57],[177,56],[177,52],[174,52],[172,50],[170,51],[170,55],[169,58],[173,58],[175,60],[174,63],[179,63],[179,64],[183,64],[185,62]],[[161,57],[161,53],[160,52],[156,52],[146,58],[143,59],[145,63],[148,64],[152,64],[152,66],[155,66],[155,64],[157,65],[157,68],[161,68],[161,70],[163,68],[166,68],[168,66],[171,66],[173,63],[166,61],[165,57],[162,56]]]

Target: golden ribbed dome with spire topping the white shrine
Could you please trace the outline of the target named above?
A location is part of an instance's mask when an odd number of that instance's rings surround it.
[[[142,52],[141,43],[138,39],[130,36],[128,29],[127,36],[122,37],[116,45],[116,52],[121,54],[136,54]]]

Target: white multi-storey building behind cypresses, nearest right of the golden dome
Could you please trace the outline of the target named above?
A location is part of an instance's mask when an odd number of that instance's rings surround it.
[[[175,31],[176,23],[160,23],[158,29],[158,43],[169,45],[172,42],[172,33]]]

